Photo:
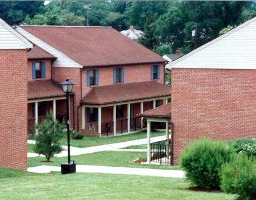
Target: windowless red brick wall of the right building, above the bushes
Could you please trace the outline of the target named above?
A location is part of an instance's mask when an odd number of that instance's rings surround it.
[[[172,69],[174,161],[188,140],[256,137],[256,70]]]

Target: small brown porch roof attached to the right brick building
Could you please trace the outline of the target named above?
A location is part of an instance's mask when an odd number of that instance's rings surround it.
[[[154,118],[170,118],[171,104],[161,105],[160,107],[154,108],[138,114],[141,117],[154,117]]]

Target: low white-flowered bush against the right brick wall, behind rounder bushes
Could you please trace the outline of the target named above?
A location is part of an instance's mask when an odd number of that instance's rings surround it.
[[[237,139],[230,142],[238,154],[256,158],[256,139]]]

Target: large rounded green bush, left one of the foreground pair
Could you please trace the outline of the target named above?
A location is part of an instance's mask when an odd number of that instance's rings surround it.
[[[202,188],[220,187],[220,168],[233,158],[234,152],[226,143],[199,139],[185,147],[180,157],[187,180]]]

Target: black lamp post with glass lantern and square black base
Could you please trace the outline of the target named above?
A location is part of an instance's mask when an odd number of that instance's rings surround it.
[[[61,165],[62,168],[62,174],[70,174],[75,173],[76,171],[76,165],[75,161],[70,161],[70,130],[69,130],[69,93],[72,92],[74,83],[66,79],[64,82],[61,83],[63,92],[66,93],[66,129],[68,133],[68,162],[63,163]]]

